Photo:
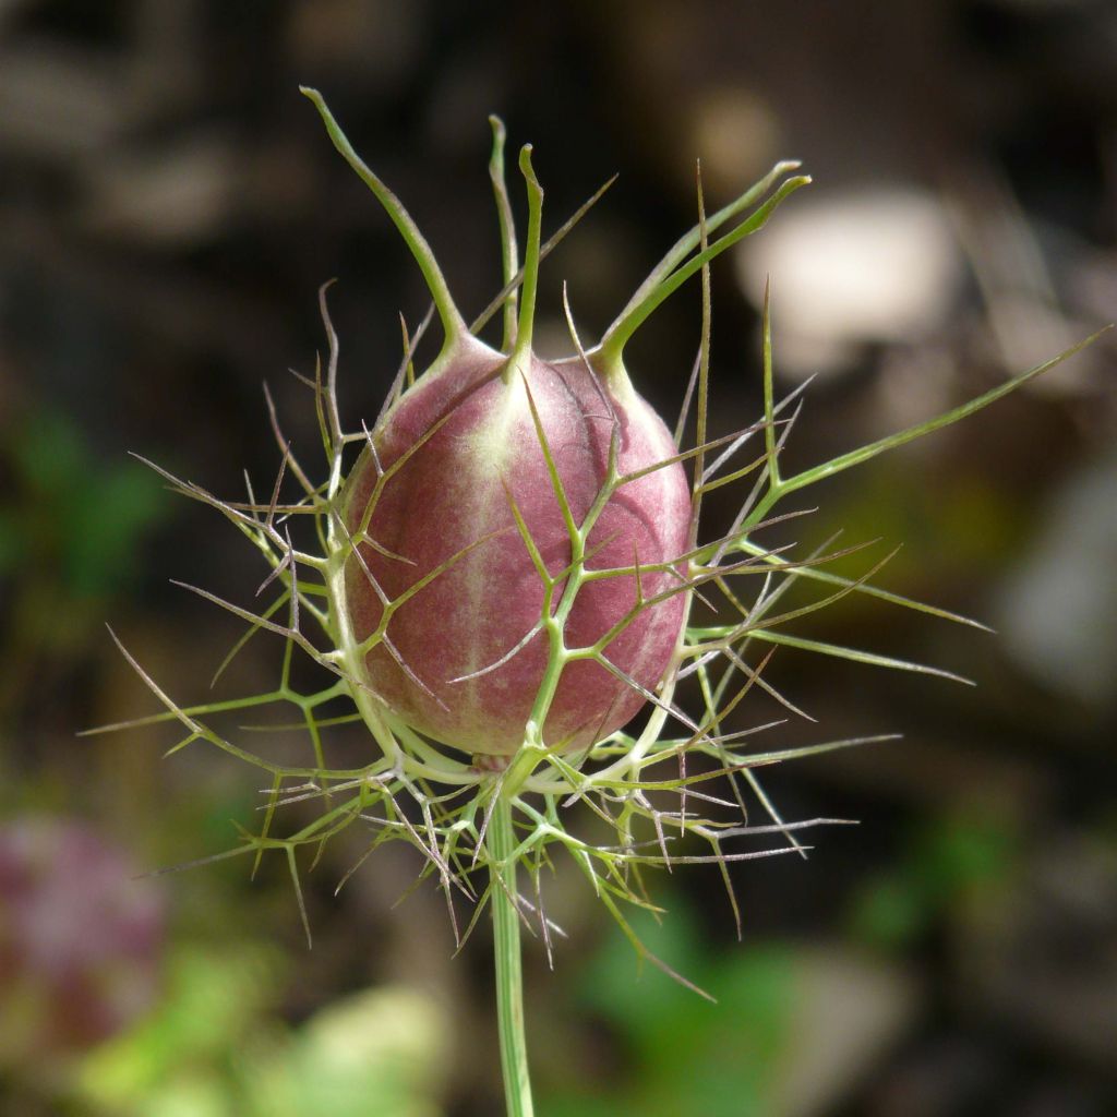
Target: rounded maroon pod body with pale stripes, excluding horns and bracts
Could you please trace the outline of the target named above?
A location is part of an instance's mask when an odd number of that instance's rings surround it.
[[[581,652],[561,666],[542,743],[580,750],[624,725],[684,624],[690,490],[623,372],[466,338],[372,441],[346,489],[366,542],[345,585],[360,640],[403,599],[365,658],[376,696],[437,741],[510,755],[548,663]]]

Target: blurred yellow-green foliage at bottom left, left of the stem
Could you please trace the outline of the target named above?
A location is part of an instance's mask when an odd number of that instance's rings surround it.
[[[403,985],[276,1015],[289,956],[261,944],[178,948],[160,1009],[94,1051],[77,1099],[120,1117],[436,1117],[449,1030]]]

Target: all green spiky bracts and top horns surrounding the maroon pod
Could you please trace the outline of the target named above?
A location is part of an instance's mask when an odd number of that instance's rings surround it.
[[[305,92],[322,113],[338,150],[400,228],[427,278],[447,338],[460,337],[464,331],[460,315],[426,240],[394,195],[355,155],[321,97],[314,90]],[[500,199],[506,201],[507,197],[503,191],[503,133],[495,127],[491,166],[498,210]],[[708,266],[718,252],[758,229],[783,198],[804,184],[806,180],[802,176],[786,178],[794,169],[795,164],[779,164],[761,183],[709,217],[699,208],[696,227],[663,257],[607,331],[600,347],[585,351],[571,321],[572,342],[581,357],[607,372],[611,367],[622,367],[624,345],[639,325],[682,283],[701,274],[704,313],[697,402],[699,412],[704,413],[709,397],[709,313],[705,280]],[[550,241],[541,244],[542,190],[527,156],[522,156],[522,170],[528,185],[531,214],[525,266],[523,269],[517,267],[510,214],[504,214],[502,210],[504,287],[485,313],[496,313],[503,307],[505,349],[521,352],[523,346],[526,353],[531,344],[540,262],[572,222],[563,226]],[[731,232],[709,240],[718,228],[746,211],[748,216]],[[515,293],[521,283],[524,292],[517,306]],[[532,309],[525,309],[528,305]],[[302,847],[309,847],[314,858],[318,858],[333,837],[356,823],[369,830],[369,852],[383,841],[409,842],[421,857],[420,876],[437,880],[446,894],[451,917],[455,917],[457,900],[476,904],[477,897],[485,895],[485,889],[476,885],[477,873],[489,872],[487,895],[490,900],[495,896],[491,886],[499,879],[504,879],[507,886],[502,887],[502,895],[516,896],[515,880],[509,884],[506,875],[512,861],[512,848],[523,875],[535,890],[531,905],[523,895],[513,903],[514,908],[516,903],[519,906],[518,913],[514,914],[516,918],[526,918],[529,913],[548,948],[553,924],[544,911],[542,880],[551,870],[553,855],[557,852],[570,857],[585,876],[594,895],[630,934],[624,918],[626,905],[650,905],[642,876],[648,868],[705,860],[722,868],[728,886],[726,867],[729,863],[794,851],[798,848],[796,836],[805,827],[828,821],[783,822],[755,782],[755,770],[783,760],[886,738],[823,741],[803,748],[761,752],[753,747],[753,736],[767,726],[732,731],[731,722],[737,724],[733,719],[742,704],[757,691],[775,697],[789,710],[796,712],[790,699],[775,691],[764,677],[764,667],[774,650],[799,649],[890,670],[956,678],[949,672],[918,663],[809,640],[792,631],[806,611],[823,608],[847,594],[870,595],[895,607],[916,609],[953,621],[964,619],[875,585],[870,579],[879,564],[870,564],[867,574],[860,579],[842,577],[825,569],[832,560],[849,554],[849,548],[839,552],[821,548],[805,556],[794,556],[785,551],[773,552],[764,545],[763,531],[780,518],[777,507],[782,507],[794,493],[981,410],[1094,340],[1088,338],[1054,360],[1037,365],[942,417],[785,477],[779,468],[779,459],[791,431],[791,408],[790,401],[775,398],[768,302],[765,299],[762,417],[756,424],[738,435],[715,440],[704,433],[705,420],[699,417],[696,445],[671,459],[687,462],[693,470],[696,512],[705,493],[733,484],[743,487],[741,515],[732,531],[713,541],[699,540],[696,523],[688,552],[658,565],[642,565],[633,560],[631,565],[614,570],[589,567],[592,557],[589,536],[601,509],[638,475],[621,475],[613,460],[592,507],[579,521],[570,509],[554,465],[553,448],[547,445],[533,409],[540,445],[547,459],[555,498],[570,537],[571,562],[566,570],[556,574],[550,573],[542,560],[536,563],[536,573],[545,591],[540,631],[546,632],[551,656],[525,726],[524,745],[505,771],[495,777],[491,771],[475,766],[461,755],[451,754],[404,724],[383,705],[365,681],[364,657],[372,643],[390,643],[391,617],[404,595],[385,601],[383,623],[370,637],[363,640],[356,638],[345,608],[344,567],[346,562],[360,554],[361,545],[374,545],[374,541],[365,534],[367,519],[356,532],[346,527],[342,508],[343,457],[347,450],[364,447],[374,459],[375,446],[369,431],[346,432],[342,427],[336,397],[337,337],[326,313],[324,296],[322,312],[328,342],[327,359],[324,364],[318,363],[313,378],[303,378],[313,395],[318,418],[325,459],[321,483],[314,479],[318,471],[304,468],[284,437],[270,399],[269,413],[280,462],[270,490],[262,499],[250,486],[242,500],[220,499],[198,485],[159,470],[173,489],[217,509],[264,557],[268,576],[261,593],[271,596],[259,611],[222,601],[206,591],[194,592],[232,613],[247,627],[245,636],[222,662],[219,674],[249,640],[262,634],[277,640],[281,647],[276,685],[258,694],[181,706],[128,656],[128,661],[162,707],[162,713],[128,725],[175,724],[181,728],[182,736],[171,752],[204,744],[254,766],[260,773],[264,786],[259,825],[255,832],[244,832],[236,849],[219,856],[248,853],[258,859],[265,851],[280,851],[293,873],[298,896]],[[474,328],[480,327],[475,324]],[[405,352],[393,399],[404,389],[407,370],[421,334],[422,327],[413,333],[405,332]],[[528,400],[531,402],[529,393]],[[742,455],[746,459],[744,464],[741,464]],[[669,464],[662,462],[652,468],[666,468]],[[398,466],[383,470],[378,484],[390,484],[395,468]],[[294,495],[289,495],[292,489]],[[528,553],[537,555],[538,546],[523,517],[515,515],[514,507],[513,512],[524,546]],[[300,543],[311,540],[313,546],[295,546],[293,533]],[[407,594],[421,593],[430,580],[443,576],[460,557],[452,556],[429,575],[424,584],[417,583]],[[605,669],[612,669],[608,653],[610,642],[624,626],[632,623],[641,609],[656,603],[655,596],[640,594],[632,613],[593,646],[567,647],[566,622],[577,594],[596,580],[627,577],[640,582],[652,571],[668,570],[677,572],[677,585],[665,592],[708,596],[712,603],[716,602],[718,623],[691,624],[684,630],[662,685],[655,694],[642,695],[648,701],[649,713],[643,727],[634,735],[623,732],[611,734],[596,742],[585,755],[577,756],[547,747],[540,727],[545,722],[563,669],[575,659],[595,660]],[[821,594],[809,605],[781,611],[784,595],[796,584],[821,591]],[[293,686],[292,665],[296,656],[305,657],[321,672],[323,682],[317,690],[307,693]],[[675,700],[678,681],[688,676],[697,679],[700,694],[698,709],[691,712],[679,708]],[[236,739],[222,727],[223,719],[231,715],[275,709],[289,712],[289,722],[276,724],[273,720],[266,727],[249,726]],[[345,732],[352,725],[363,725],[376,747],[370,751],[366,764],[340,767],[333,754],[334,737],[338,731]],[[101,732],[123,727],[108,726]],[[305,742],[304,763],[278,763],[271,758],[271,743],[287,733],[297,733]],[[248,742],[252,738],[261,744],[250,746]],[[687,757],[691,756],[703,757],[704,766],[688,768]],[[728,790],[719,795],[713,794],[709,782],[714,780],[724,781],[723,786]],[[513,817],[516,821],[514,847],[502,844],[508,837],[507,831],[503,838],[491,831],[495,813],[486,820],[486,810],[494,802],[495,784],[499,786],[497,802],[507,806],[509,827]],[[676,799],[665,801],[665,795],[672,792]],[[772,818],[771,824],[750,825],[743,818],[746,793],[760,799]],[[312,802],[321,805],[321,813],[307,822],[305,812]],[[612,840],[608,844],[596,844],[572,832],[569,808],[573,805],[592,811],[605,822],[611,828]],[[488,838],[486,824],[489,828]],[[695,847],[681,841],[685,834],[704,842],[708,852],[694,853],[691,850]],[[774,849],[757,850],[748,844],[755,838],[766,839],[772,834],[782,841]],[[498,875],[496,878],[491,876],[494,871]],[[500,873],[505,876],[500,877]],[[476,918],[475,913],[474,920]],[[466,935],[474,920],[465,928]]]

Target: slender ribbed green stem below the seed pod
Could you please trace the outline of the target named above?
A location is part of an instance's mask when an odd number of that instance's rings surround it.
[[[512,803],[497,793],[488,824],[493,907],[493,956],[496,968],[496,1013],[500,1033],[500,1070],[508,1117],[533,1117],[524,1030],[524,980],[519,957],[519,913],[516,910],[516,836]]]

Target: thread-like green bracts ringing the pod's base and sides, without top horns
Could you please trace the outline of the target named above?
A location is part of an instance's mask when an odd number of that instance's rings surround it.
[[[327,328],[327,334],[332,336],[332,330]],[[1068,351],[1063,357],[1080,347],[1076,346]],[[812,470],[777,483],[775,488],[768,485],[756,506],[776,503],[782,495],[779,489],[780,484],[794,485],[796,489],[805,487],[831,476],[839,469],[850,468],[860,460],[867,460],[873,454],[884,452],[920,433],[937,429],[946,421],[970,414],[1051,367],[1053,363],[1056,362],[1046,362],[1029,370],[1014,381],[955,409],[945,419],[932,420],[922,427],[882,439],[853,455],[839,456]],[[766,369],[766,376],[771,376],[770,366]],[[316,394],[327,391],[321,378],[316,378],[314,390]],[[772,407],[775,420],[779,420],[781,411],[782,405]],[[327,416],[331,408],[323,403],[322,412],[323,416]],[[343,445],[344,439],[338,440],[332,436],[328,419],[324,419],[322,429],[323,447],[327,452],[327,461],[332,462],[333,454],[337,452],[336,447]],[[767,429],[767,424],[761,424],[752,431],[755,433],[762,429]],[[746,431],[739,437],[747,436]],[[364,435],[356,437],[363,439]],[[165,708],[162,714],[128,724],[150,726],[156,723],[178,723],[185,733],[170,750],[171,752],[191,744],[204,743],[251,764],[265,774],[267,783],[261,789],[262,823],[258,832],[244,833],[241,844],[230,852],[249,852],[258,857],[265,850],[281,850],[289,868],[294,871],[298,847],[311,846],[317,851],[315,856],[321,856],[325,843],[342,829],[354,822],[369,824],[369,819],[378,818],[379,821],[373,825],[374,836],[370,851],[385,840],[409,841],[423,858],[422,875],[433,875],[448,897],[474,896],[476,890],[469,884],[469,876],[475,866],[485,863],[486,858],[480,837],[481,827],[477,818],[477,803],[483,798],[481,791],[490,775],[448,755],[446,750],[424,741],[419,734],[400,724],[389,710],[378,704],[375,697],[361,682],[360,675],[353,669],[360,649],[355,643],[351,643],[349,658],[344,655],[345,613],[338,607],[342,588],[337,570],[342,562],[341,556],[351,553],[353,544],[342,542],[344,536],[335,534],[338,550],[333,558],[306,553],[290,545],[286,528],[283,526],[285,522],[296,517],[311,517],[316,524],[315,534],[326,537],[331,531],[336,531],[338,517],[325,490],[304,484],[302,480],[298,484],[303,493],[297,499],[293,502],[280,499],[280,483],[284,478],[306,477],[307,472],[294,459],[289,446],[278,430],[277,440],[283,448],[281,468],[273,487],[271,497],[264,502],[258,500],[251,490],[246,502],[223,502],[197,485],[180,481],[160,470],[180,493],[220,510],[267,557],[271,567],[270,584],[276,588],[276,596],[271,604],[259,613],[220,601],[204,591],[195,592],[232,612],[248,624],[245,637],[233,649],[235,652],[239,651],[247,640],[259,633],[279,638],[283,657],[277,686],[260,694],[183,707],[128,657],[130,662]],[[724,452],[726,441],[718,440],[703,448],[708,457],[714,458],[715,464],[720,454],[717,454],[717,457],[715,455],[717,451]],[[776,452],[779,448],[777,440]],[[693,448],[680,456],[693,459],[697,456],[697,450]],[[766,461],[766,455],[762,455],[753,464],[752,472],[762,470]],[[745,474],[744,479],[748,476],[751,475]],[[776,476],[779,477],[779,474]],[[629,479],[611,476],[602,488],[599,504]],[[710,484],[712,480],[713,477],[707,478],[705,484]],[[591,510],[585,522],[575,525],[576,538],[583,545],[583,553],[584,536],[592,526],[592,516]],[[600,742],[581,766],[577,763],[579,757],[564,757],[542,747],[537,741],[532,742],[532,747],[523,750],[505,772],[505,794],[510,801],[515,801],[522,818],[531,823],[531,829],[521,838],[519,849],[522,863],[529,868],[532,879],[536,882],[542,869],[551,865],[547,850],[557,846],[566,850],[579,869],[586,875],[595,894],[607,899],[607,906],[614,917],[619,917],[620,910],[617,905],[620,901],[641,905],[646,903],[638,885],[641,866],[677,863],[695,859],[693,855],[679,853],[674,849],[675,842],[668,837],[671,831],[678,833],[685,830],[707,842],[710,847],[708,859],[723,867],[739,858],[782,852],[783,850],[779,849],[732,851],[733,842],[747,840],[754,834],[763,834],[765,828],[727,824],[724,819],[718,820],[710,811],[695,810],[701,802],[708,802],[698,796],[701,784],[718,775],[726,776],[732,783],[742,776],[747,779],[754,768],[779,761],[865,744],[868,741],[886,739],[873,737],[833,741],[805,748],[757,752],[751,747],[752,732],[760,732],[763,727],[756,727],[745,735],[725,733],[723,723],[753,689],[766,689],[771,693],[770,686],[763,679],[766,652],[758,662],[747,663],[744,648],[750,643],[768,650],[773,647],[795,648],[892,670],[923,671],[952,677],[949,672],[923,665],[860,649],[808,640],[785,631],[785,626],[802,617],[804,610],[799,609],[780,615],[775,612],[775,605],[786,588],[799,580],[805,580],[804,584],[808,585],[819,584],[828,591],[813,608],[821,608],[840,595],[863,593],[903,608],[918,609],[951,620],[963,619],[944,610],[888,593],[867,580],[849,580],[828,572],[823,565],[827,558],[833,555],[817,554],[802,561],[793,561],[785,554],[773,554],[754,538],[761,525],[755,510],[746,518],[751,526],[742,526],[731,536],[696,548],[688,558],[691,580],[685,588],[687,592],[693,589],[695,592],[707,593],[716,589],[726,593],[725,600],[736,603],[736,614],[741,619],[736,623],[717,627],[693,626],[687,630],[680,641],[677,671],[668,678],[659,695],[649,696],[652,710],[645,729],[636,737],[618,733]],[[528,534],[526,540],[529,538]],[[719,552],[732,552],[743,557],[718,566],[715,556]],[[566,592],[576,593],[580,581],[613,575],[631,576],[637,571],[636,567],[590,571],[584,569],[583,563],[579,571],[564,573],[573,574],[573,577],[569,579]],[[739,591],[733,588],[733,582],[735,579],[757,574],[770,575],[763,579],[766,588],[746,604]],[[556,579],[555,582],[557,581]],[[312,640],[315,631],[318,638]],[[601,647],[575,652],[564,650],[555,657],[551,666],[552,675],[548,677],[553,678],[561,670],[566,656],[603,655],[607,643],[608,641],[603,640]],[[296,690],[290,684],[292,660],[296,653],[307,656],[326,670],[332,681],[316,693],[304,694]],[[227,663],[222,665],[222,669],[225,666]],[[694,672],[697,672],[701,682],[705,709],[691,717],[674,706],[671,696],[675,679]],[[352,704],[349,713],[327,713],[332,710],[332,704],[345,698]],[[545,713],[544,704],[545,699],[541,699],[536,716]],[[271,725],[266,732],[268,736],[288,732],[304,734],[308,744],[308,757],[307,763],[303,765],[277,764],[265,753],[235,743],[218,727],[218,722],[225,715],[284,705],[293,708],[295,720],[286,726]],[[686,727],[681,736],[663,733],[668,720],[672,718]],[[363,723],[370,729],[380,743],[382,754],[367,765],[342,768],[336,766],[330,756],[331,734],[338,726],[354,722]],[[101,732],[124,727],[106,726]],[[249,727],[247,732],[260,736],[264,731],[261,727],[254,733]],[[715,762],[714,767],[686,776],[672,776],[663,772],[665,762],[677,764],[680,756],[688,754],[707,756]],[[670,791],[689,794],[690,808],[686,813],[652,805],[653,795]],[[461,798],[462,792],[467,793],[465,799]],[[472,794],[469,794],[470,792]],[[285,814],[296,804],[314,799],[322,801],[322,814],[313,822],[296,828],[286,837],[276,837],[274,830]],[[613,827],[614,846],[594,847],[576,839],[567,831],[564,804],[575,802],[589,806],[599,818],[607,820]],[[709,805],[712,810],[716,808],[716,804]],[[414,821],[416,819],[418,821]],[[773,822],[767,832],[784,833],[790,837],[799,830],[791,824]],[[648,844],[649,838],[651,846]],[[546,930],[546,917],[542,913],[542,906],[537,915]]]

